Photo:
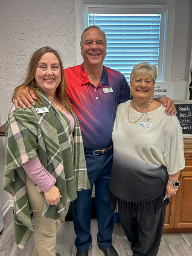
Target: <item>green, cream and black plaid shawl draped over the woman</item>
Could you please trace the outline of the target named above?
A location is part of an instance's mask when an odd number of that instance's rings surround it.
[[[27,198],[25,172],[22,164],[38,157],[47,171],[56,178],[55,186],[62,195],[57,205],[48,205],[45,200],[43,216],[58,223],[64,222],[67,197],[77,198],[76,190],[89,189],[84,147],[76,115],[74,143],[70,121],[49,99],[39,91],[44,105],[9,112],[6,123],[6,168],[5,186],[14,199],[15,242],[23,248],[34,229],[31,209]],[[47,113],[37,113],[38,108],[48,109]],[[44,192],[36,186],[39,192]]]

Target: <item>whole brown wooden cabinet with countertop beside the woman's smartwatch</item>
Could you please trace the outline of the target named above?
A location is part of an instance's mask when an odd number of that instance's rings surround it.
[[[192,232],[192,139],[184,139],[185,169],[180,187],[167,207],[163,233]]]

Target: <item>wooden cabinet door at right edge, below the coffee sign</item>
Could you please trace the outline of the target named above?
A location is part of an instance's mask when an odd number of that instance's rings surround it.
[[[187,166],[180,172],[180,188],[176,194],[174,228],[192,227],[192,172]]]

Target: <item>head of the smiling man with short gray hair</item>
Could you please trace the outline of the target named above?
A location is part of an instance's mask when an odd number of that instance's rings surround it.
[[[84,59],[84,66],[103,65],[103,61],[107,54],[105,46],[105,36],[99,29],[89,29],[85,32],[81,54]]]

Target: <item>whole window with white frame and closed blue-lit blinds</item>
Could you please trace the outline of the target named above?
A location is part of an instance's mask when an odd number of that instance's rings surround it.
[[[97,0],[76,0],[77,64],[82,62],[81,33],[94,22],[108,38],[106,66],[124,73],[129,81],[132,67],[148,61],[157,67],[157,81],[170,81],[175,0],[132,3],[130,0],[103,0],[102,4]]]

